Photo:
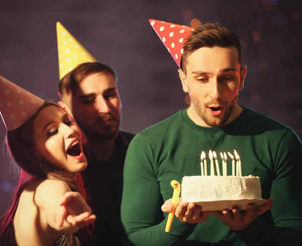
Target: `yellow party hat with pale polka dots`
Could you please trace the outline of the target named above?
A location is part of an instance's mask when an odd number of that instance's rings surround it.
[[[60,22],[56,23],[56,30],[60,80],[78,65],[97,61]]]

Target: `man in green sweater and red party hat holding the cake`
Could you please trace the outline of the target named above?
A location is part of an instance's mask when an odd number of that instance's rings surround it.
[[[155,20],[150,24],[181,68],[191,105],[138,133],[129,145],[121,205],[128,238],[143,246],[297,245],[302,234],[302,145],[290,128],[237,104],[247,73],[239,38],[218,24],[195,30]],[[165,232],[171,180],[181,183],[183,176],[200,175],[202,151],[234,149],[242,175],[259,176],[262,198],[268,201],[250,204],[247,211],[235,207],[222,212],[181,203],[171,231]],[[228,175],[230,164],[229,159]],[[221,161],[219,166],[222,170]]]

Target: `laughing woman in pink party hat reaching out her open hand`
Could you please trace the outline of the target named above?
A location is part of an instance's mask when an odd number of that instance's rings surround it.
[[[19,186],[0,218],[1,245],[87,245],[96,216],[80,172],[87,167],[79,127],[56,103],[0,76],[6,143]]]

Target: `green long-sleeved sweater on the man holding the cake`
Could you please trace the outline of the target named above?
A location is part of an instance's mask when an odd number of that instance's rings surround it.
[[[171,180],[200,175],[200,154],[233,152],[241,157],[242,175],[260,177],[262,198],[273,208],[241,231],[210,215],[201,224],[174,217],[165,232],[161,206],[173,195]],[[221,128],[197,126],[187,110],[138,133],[124,166],[122,222],[135,245],[295,245],[302,234],[302,145],[295,133],[265,115],[243,107],[240,116]],[[218,154],[219,169],[222,170]],[[209,160],[208,160],[209,163]],[[228,159],[228,175],[232,175]],[[207,165],[210,173],[210,165]],[[203,242],[203,243],[201,243]]]

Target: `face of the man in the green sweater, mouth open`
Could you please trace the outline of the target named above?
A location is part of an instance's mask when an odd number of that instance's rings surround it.
[[[245,75],[236,47],[202,47],[188,56],[186,75],[180,71],[180,78],[201,126],[221,127],[228,121]]]

